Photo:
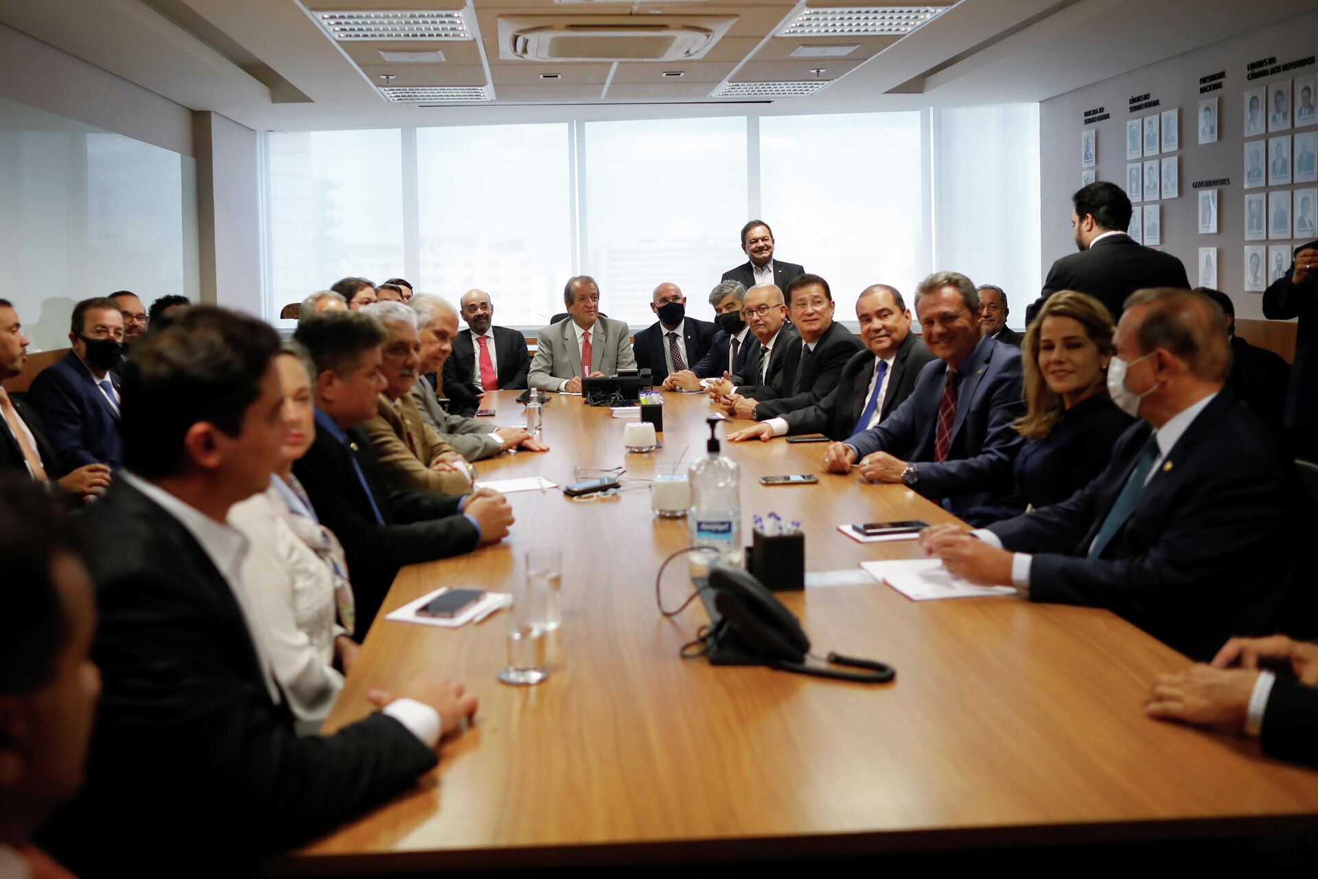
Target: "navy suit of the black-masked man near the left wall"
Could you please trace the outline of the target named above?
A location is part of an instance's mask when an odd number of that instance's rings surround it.
[[[113,376],[108,378],[119,391],[119,381]],[[70,351],[37,373],[28,402],[41,415],[46,439],[66,473],[87,464],[108,464],[116,470],[123,465],[119,414],[78,354]]]

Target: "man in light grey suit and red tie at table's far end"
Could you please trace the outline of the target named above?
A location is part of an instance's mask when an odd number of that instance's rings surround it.
[[[563,287],[567,320],[542,327],[529,376],[531,387],[581,393],[581,377],[597,378],[635,369],[626,322],[600,315],[600,285],[590,275],[569,278]]]

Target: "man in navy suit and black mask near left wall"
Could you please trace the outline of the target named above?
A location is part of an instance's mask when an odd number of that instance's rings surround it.
[[[28,402],[66,472],[87,464],[117,470],[123,463],[119,380],[109,370],[124,356],[119,303],[107,298],[79,302],[69,340],[72,351],[37,374]]]

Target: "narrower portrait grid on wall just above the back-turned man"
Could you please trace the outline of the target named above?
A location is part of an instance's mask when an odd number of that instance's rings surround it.
[[[1140,244],[1162,244],[1161,202],[1181,196],[1181,157],[1169,156],[1180,149],[1180,107],[1126,123],[1126,194],[1133,207],[1127,233]]]

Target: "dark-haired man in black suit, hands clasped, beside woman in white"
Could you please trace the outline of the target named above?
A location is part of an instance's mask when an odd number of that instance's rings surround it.
[[[357,602],[357,640],[402,565],[498,543],[513,525],[511,507],[498,492],[410,492],[381,476],[360,426],[376,416],[385,389],[380,361],[387,337],[380,322],[352,311],[320,315],[294,336],[316,365],[316,439],[293,473],[343,544]]]

